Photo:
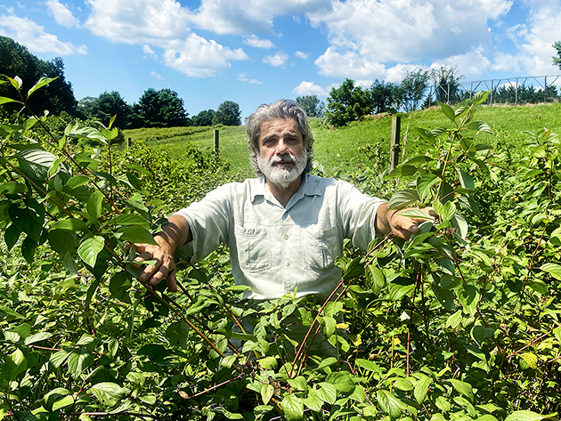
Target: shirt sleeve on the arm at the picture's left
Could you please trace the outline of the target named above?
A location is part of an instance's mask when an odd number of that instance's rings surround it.
[[[189,223],[192,240],[187,243],[191,262],[199,262],[215,251],[221,243],[228,243],[232,224],[232,195],[229,184],[210,191],[199,202],[176,212]]]

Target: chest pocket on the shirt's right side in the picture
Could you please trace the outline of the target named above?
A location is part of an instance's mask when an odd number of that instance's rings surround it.
[[[305,250],[309,250],[308,269],[328,269],[340,255],[337,227],[328,229],[307,229],[304,239]]]

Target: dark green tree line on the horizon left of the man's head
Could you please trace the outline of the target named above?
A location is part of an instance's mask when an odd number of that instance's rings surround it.
[[[37,84],[41,77],[56,77],[48,89],[41,90],[29,101],[31,109],[48,109],[51,114],[66,113],[83,120],[100,120],[108,124],[117,116],[118,128],[173,127],[178,125],[240,125],[240,106],[234,101],[224,101],[218,109],[206,109],[189,117],[183,99],[169,89],[148,88],[137,102],[128,104],[118,91],[103,92],[97,97],[85,97],[77,101],[72,84],[64,77],[64,62],[60,57],[43,61],[28,49],[7,36],[0,36],[0,75],[20,77],[23,92]],[[0,96],[15,98],[12,86],[2,82]],[[16,111],[6,107],[5,113]]]

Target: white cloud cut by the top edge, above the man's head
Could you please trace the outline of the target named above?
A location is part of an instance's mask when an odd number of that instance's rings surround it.
[[[331,0],[202,0],[190,21],[216,34],[271,32],[275,16],[329,9]]]

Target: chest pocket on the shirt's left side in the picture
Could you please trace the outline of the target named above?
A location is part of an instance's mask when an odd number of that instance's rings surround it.
[[[271,269],[271,233],[264,228],[236,227],[238,261],[242,271]]]

